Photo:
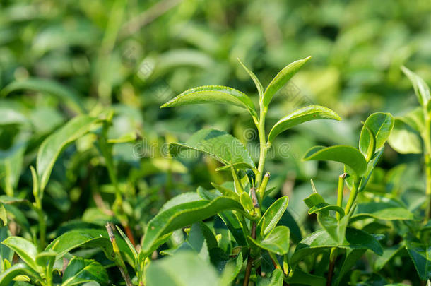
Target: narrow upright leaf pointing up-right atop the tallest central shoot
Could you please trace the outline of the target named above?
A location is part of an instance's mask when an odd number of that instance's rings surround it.
[[[269,102],[271,102],[273,95],[287,83],[290,78],[292,78],[297,71],[300,70],[300,68],[311,58],[311,56],[308,56],[305,59],[300,59],[297,61],[294,61],[291,64],[288,64],[288,66],[285,66],[269,83],[269,85],[266,87],[263,102],[264,107],[268,108]]]

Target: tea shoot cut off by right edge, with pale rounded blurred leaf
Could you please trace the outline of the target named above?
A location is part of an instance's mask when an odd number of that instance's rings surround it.
[[[401,67],[403,73],[413,85],[420,107],[407,114],[396,117],[394,132],[389,137],[389,144],[398,153],[423,154],[423,169],[425,169],[425,197],[419,205],[425,205],[416,210],[418,218],[408,225],[409,232],[405,234],[405,247],[411,256],[413,264],[421,280],[431,279],[429,266],[430,249],[430,216],[431,216],[431,117],[430,88],[417,74],[406,67]]]

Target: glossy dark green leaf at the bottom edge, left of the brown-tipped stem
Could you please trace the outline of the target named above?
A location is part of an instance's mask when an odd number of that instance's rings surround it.
[[[64,270],[61,286],[78,285],[95,281],[100,284],[108,282],[106,269],[97,261],[73,257]]]

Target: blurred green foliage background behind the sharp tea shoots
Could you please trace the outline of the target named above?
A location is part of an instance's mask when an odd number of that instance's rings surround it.
[[[137,135],[136,141],[115,144],[114,155],[130,198],[128,219],[142,231],[166,199],[229,179],[214,171],[213,160],[167,159],[165,143],[213,126],[240,138],[255,156],[257,151],[252,121],[237,107],[160,105],[198,85],[228,85],[256,101],[237,58],[266,85],[283,66],[312,56],[268,113],[268,126],[307,104],[325,105],[343,118],[310,122],[279,136],[267,160],[270,186],[276,187],[272,196],[290,196],[291,212],[305,220],[309,179],[333,200],[333,178],[342,170],[329,164],[317,172],[317,162],[302,162],[302,155],[313,145],[356,145],[360,121],[372,112],[401,115],[417,105],[400,66],[431,82],[430,15],[429,0],[1,1],[0,90],[28,79],[37,85],[43,78],[64,85],[78,102],[28,88],[0,97],[1,160],[22,169],[10,181],[0,177],[1,186],[30,196],[28,166],[35,164],[42,140],[77,113],[76,105],[93,114],[112,108],[110,136]],[[78,218],[105,221],[95,205],[99,196],[110,201],[113,191],[104,162],[90,148],[94,142],[92,136],[81,138],[57,162],[45,203],[57,213],[49,218],[49,230]],[[384,180],[385,170],[403,163],[408,167],[398,172],[399,188],[420,193],[418,158],[388,146],[374,179]]]

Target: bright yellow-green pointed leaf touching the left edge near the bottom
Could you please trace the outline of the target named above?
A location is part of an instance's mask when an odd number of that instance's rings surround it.
[[[27,239],[23,239],[22,237],[8,237],[1,243],[15,251],[16,254],[18,254],[18,256],[28,264],[28,266],[33,268],[33,270],[40,270],[40,267],[37,266],[35,261],[37,255],[35,244],[29,242]]]

